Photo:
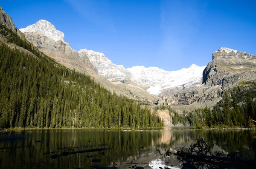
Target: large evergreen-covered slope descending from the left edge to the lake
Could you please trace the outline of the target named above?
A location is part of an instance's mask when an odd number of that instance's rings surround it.
[[[149,109],[61,66],[6,26],[0,34],[8,42],[0,44],[1,128],[163,126]]]

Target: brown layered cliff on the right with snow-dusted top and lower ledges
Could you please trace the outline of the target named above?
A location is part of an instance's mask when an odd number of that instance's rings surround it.
[[[182,90],[163,90],[159,105],[189,105],[207,103],[214,105],[223,91],[239,86],[242,80],[256,81],[256,56],[222,47],[212,54],[203,72],[203,85]]]

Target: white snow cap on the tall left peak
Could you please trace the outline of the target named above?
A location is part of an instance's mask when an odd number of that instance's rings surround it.
[[[64,42],[64,33],[58,31],[52,23],[47,20],[38,20],[36,23],[20,29],[21,32],[38,32],[42,36],[49,37],[55,41]]]

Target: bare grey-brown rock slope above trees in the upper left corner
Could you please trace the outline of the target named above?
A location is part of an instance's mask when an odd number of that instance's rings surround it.
[[[12,21],[12,18],[3,11],[3,8],[0,6],[0,23],[7,26],[9,29],[12,29],[12,31],[17,32],[21,37],[25,37],[22,32],[20,32],[19,29],[16,28],[15,24]]]

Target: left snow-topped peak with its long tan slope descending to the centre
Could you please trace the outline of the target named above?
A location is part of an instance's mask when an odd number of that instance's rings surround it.
[[[107,89],[131,98],[147,100],[154,103],[157,101],[157,97],[149,94],[144,89],[133,86],[132,84],[127,86],[122,83],[112,83],[99,75],[98,70],[92,63],[90,63],[88,58],[88,56],[93,55],[93,52],[78,52],[72,49],[70,44],[64,41],[64,33],[58,31],[52,23],[49,23],[46,20],[39,20],[37,23],[20,30],[25,34],[26,39],[35,45],[41,52],[44,52],[44,54],[47,54],[49,57],[58,61],[58,63],[61,63],[70,69],[90,74]]]

